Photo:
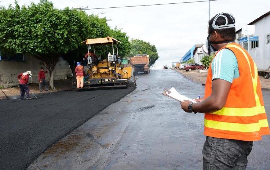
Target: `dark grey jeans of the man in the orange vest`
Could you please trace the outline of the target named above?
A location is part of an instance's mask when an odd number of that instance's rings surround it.
[[[203,147],[204,170],[245,170],[252,141],[206,137]]]

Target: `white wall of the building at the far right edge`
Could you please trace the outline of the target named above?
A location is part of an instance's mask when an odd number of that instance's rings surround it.
[[[260,19],[254,25],[255,33],[253,36],[259,36],[259,46],[251,49],[250,42],[250,55],[256,63],[258,70],[268,70],[270,66],[270,43],[266,43],[266,36],[270,34],[270,15]],[[245,36],[241,34],[241,38],[243,37]],[[239,44],[239,41],[236,42]],[[240,43],[240,45],[244,47],[244,43]]]

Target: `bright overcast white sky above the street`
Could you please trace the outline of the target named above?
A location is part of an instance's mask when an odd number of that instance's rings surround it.
[[[19,5],[38,3],[39,0],[17,0]],[[131,6],[173,2],[191,2],[197,0],[52,0],[54,6],[63,9],[70,7],[112,7]],[[0,5],[14,5],[12,0],[2,0]],[[236,18],[236,30],[270,11],[269,0],[221,0],[211,4],[211,17],[220,12],[232,14]],[[179,61],[195,44],[204,44],[207,38],[209,20],[208,2],[174,4],[160,6],[115,8],[104,10],[87,10],[88,14],[99,14],[108,21],[111,28],[117,26],[128,36],[154,44],[160,59],[160,66],[171,65]]]

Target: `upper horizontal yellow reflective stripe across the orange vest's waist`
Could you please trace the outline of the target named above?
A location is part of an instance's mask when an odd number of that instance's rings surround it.
[[[253,108],[222,108],[214,113],[224,116],[255,116],[260,113],[265,113],[264,106],[256,106]]]

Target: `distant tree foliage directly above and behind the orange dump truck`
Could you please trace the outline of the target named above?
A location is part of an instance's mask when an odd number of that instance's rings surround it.
[[[149,42],[143,40],[131,40],[130,56],[136,54],[149,54],[150,65],[155,64],[155,61],[159,58],[155,45],[151,45]]]

